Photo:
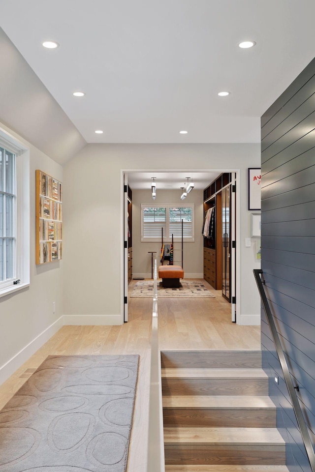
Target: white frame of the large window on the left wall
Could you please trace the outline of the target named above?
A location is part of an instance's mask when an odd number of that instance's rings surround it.
[[[30,285],[30,151],[1,128],[0,146],[16,159],[16,270],[14,279],[0,282],[1,297]]]

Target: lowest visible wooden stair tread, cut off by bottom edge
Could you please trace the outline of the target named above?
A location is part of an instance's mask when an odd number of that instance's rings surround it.
[[[270,466],[270,465],[180,465],[165,466],[165,472],[289,472],[286,466]]]

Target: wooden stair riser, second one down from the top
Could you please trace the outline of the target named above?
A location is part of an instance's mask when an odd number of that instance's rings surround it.
[[[268,380],[162,379],[163,395],[268,395]]]

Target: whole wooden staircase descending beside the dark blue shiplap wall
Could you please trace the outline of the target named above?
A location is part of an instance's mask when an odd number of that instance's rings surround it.
[[[161,352],[165,472],[288,472],[261,352]]]

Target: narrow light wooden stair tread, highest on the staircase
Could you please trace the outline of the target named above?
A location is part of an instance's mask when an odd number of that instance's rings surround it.
[[[162,379],[268,379],[262,369],[161,369]]]

